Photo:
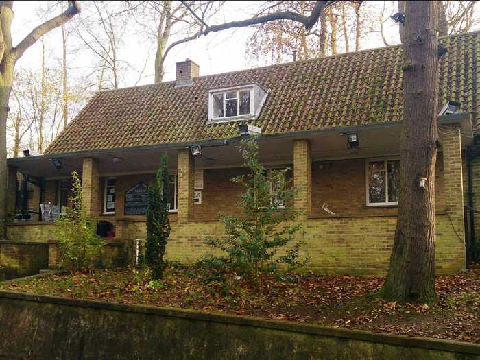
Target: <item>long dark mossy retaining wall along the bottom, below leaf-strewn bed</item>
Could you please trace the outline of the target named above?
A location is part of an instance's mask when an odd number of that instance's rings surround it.
[[[7,359],[480,359],[480,345],[0,291]]]

